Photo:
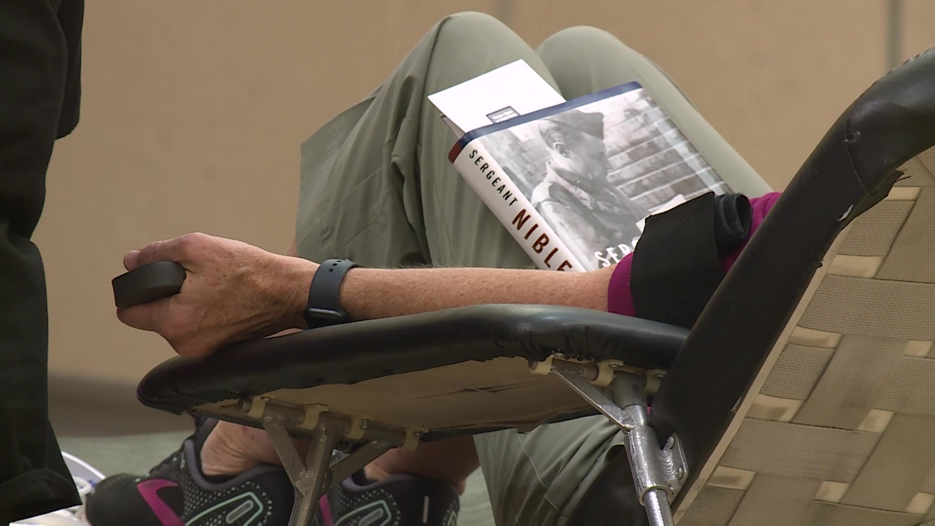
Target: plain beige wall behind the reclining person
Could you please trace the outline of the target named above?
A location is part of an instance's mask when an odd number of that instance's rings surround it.
[[[903,54],[935,45],[932,6],[907,2]],[[195,230],[285,250],[299,142],[457,9],[499,15],[533,46],[570,24],[608,29],[777,188],[887,66],[883,0],[91,2],[83,117],[56,148],[36,234],[53,403],[137,407],[132,387],[171,351],[114,317],[122,254]]]

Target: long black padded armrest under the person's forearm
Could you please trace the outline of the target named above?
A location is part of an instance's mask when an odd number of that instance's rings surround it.
[[[182,413],[281,388],[353,384],[465,361],[619,359],[667,369],[688,331],[588,309],[479,305],[367,320],[236,343],[209,358],[171,358],[140,382],[146,405]]]

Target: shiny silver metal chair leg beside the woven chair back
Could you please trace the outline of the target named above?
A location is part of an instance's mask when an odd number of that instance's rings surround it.
[[[674,526],[670,504],[682,488],[687,465],[678,437],[669,437],[666,445],[660,447],[655,431],[647,424],[645,378],[617,373],[613,380],[616,385],[612,387],[617,391],[618,404],[586,380],[581,368],[554,362],[552,373],[626,433],[627,460],[649,523]]]

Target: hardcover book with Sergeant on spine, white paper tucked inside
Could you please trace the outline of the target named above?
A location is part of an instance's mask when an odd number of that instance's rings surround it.
[[[609,267],[648,215],[731,192],[637,82],[565,101],[518,61],[429,98],[454,168],[540,269]]]

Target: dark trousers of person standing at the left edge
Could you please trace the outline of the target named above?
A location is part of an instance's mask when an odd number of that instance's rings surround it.
[[[79,504],[49,422],[49,319],[30,241],[78,123],[83,0],[0,0],[0,524]]]

